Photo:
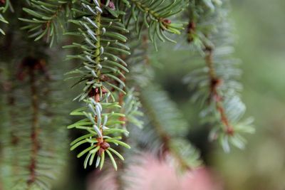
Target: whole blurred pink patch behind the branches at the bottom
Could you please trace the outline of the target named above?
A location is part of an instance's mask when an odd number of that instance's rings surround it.
[[[124,181],[128,184],[123,188],[125,190],[222,190],[220,181],[205,167],[177,173],[172,164],[151,154],[134,159],[140,159],[140,164],[131,164],[120,173],[125,175]],[[105,176],[96,177],[88,190],[118,190],[114,178],[116,173],[108,171]]]

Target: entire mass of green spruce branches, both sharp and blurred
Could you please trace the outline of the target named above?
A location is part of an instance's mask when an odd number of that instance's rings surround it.
[[[229,142],[243,148],[240,133],[254,130],[249,120],[240,121],[245,111],[237,82],[241,71],[230,55],[226,3],[30,0],[13,4],[15,14],[4,19],[13,9],[9,0],[0,0],[0,21],[11,22],[0,41],[0,187],[51,189],[58,167],[66,162],[67,131],[61,128],[69,119],[71,106],[66,105],[77,106],[70,114],[76,122],[67,128],[79,131],[70,149],[80,149],[77,157],[85,157],[84,168],[103,169],[107,161],[123,170],[125,157],[145,149],[175,162],[177,171],[202,164],[187,140],[184,116],[155,81],[154,52],[179,35],[202,62],[185,82],[204,106],[203,122],[213,125],[210,137],[219,139],[226,152]],[[69,65],[58,61],[64,51],[52,48],[63,44]],[[76,103],[68,102],[61,89],[67,68]]]

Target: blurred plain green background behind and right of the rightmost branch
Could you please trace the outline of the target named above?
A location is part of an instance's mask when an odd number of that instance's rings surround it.
[[[165,70],[157,70],[158,78],[180,103],[192,127],[190,139],[202,148],[204,159],[220,174],[227,190],[285,189],[284,9],[284,0],[232,1],[234,56],[242,60],[245,117],[253,116],[257,129],[256,134],[247,136],[244,151],[234,149],[225,154],[217,144],[203,143],[207,129],[199,125],[197,105],[187,101],[189,95],[181,85],[185,68],[192,67],[191,57],[180,51],[175,58],[160,58]]]

